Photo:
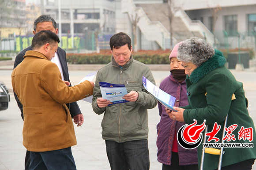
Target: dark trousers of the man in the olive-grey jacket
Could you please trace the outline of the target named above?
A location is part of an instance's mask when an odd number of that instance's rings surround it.
[[[149,170],[147,139],[105,143],[111,170]]]

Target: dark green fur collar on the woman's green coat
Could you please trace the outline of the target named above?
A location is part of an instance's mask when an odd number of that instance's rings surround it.
[[[224,66],[226,63],[226,59],[223,56],[222,52],[215,49],[215,55],[212,56],[210,59],[205,61],[199,67],[197,67],[189,77],[189,81],[192,83],[196,83],[201,78],[203,78],[206,74],[210,71],[215,70],[218,67]]]

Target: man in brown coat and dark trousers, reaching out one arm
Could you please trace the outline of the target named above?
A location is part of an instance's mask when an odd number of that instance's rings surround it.
[[[65,103],[93,94],[93,82],[68,87],[60,70],[50,60],[59,37],[40,31],[32,40],[32,51],[11,74],[14,92],[23,105],[23,145],[30,151],[30,170],[75,170],[71,146],[76,144],[74,125]]]

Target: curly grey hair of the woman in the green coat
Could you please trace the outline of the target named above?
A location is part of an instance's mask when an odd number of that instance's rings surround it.
[[[193,63],[199,67],[213,55],[215,55],[215,51],[211,44],[204,42],[202,38],[191,37],[180,44],[177,59],[184,63]]]

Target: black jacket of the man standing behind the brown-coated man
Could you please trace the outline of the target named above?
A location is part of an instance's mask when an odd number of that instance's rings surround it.
[[[23,59],[24,59],[23,57],[24,57],[25,53],[27,51],[29,51],[29,50],[32,50],[31,46],[29,46],[28,48],[26,48],[23,51],[19,52],[19,54],[15,58],[13,69],[15,69],[15,67],[17,67],[18,64],[23,61]],[[61,67],[62,67],[64,80],[70,82],[69,75],[68,75],[68,65],[67,65],[67,59],[66,59],[66,52],[62,48],[58,47],[57,53],[58,53],[58,56],[60,58],[60,64],[61,64]],[[72,85],[70,84],[70,86],[72,86]],[[18,103],[19,109],[21,111],[21,117],[23,118],[23,106],[19,102],[19,99],[16,96],[15,92],[14,92],[14,96],[15,96],[15,100]],[[70,114],[71,114],[72,118],[75,115],[81,114],[81,111],[80,111],[80,109],[78,107],[78,104],[76,102],[67,103],[67,106],[69,108],[69,111],[70,111]]]

